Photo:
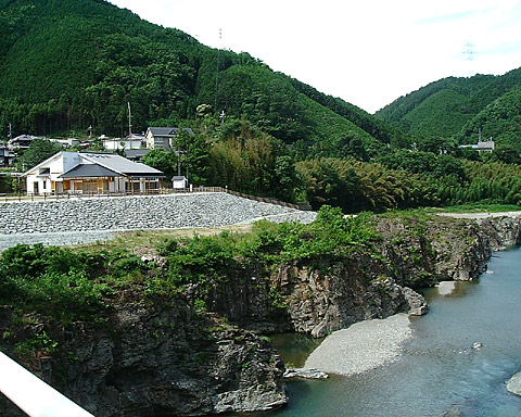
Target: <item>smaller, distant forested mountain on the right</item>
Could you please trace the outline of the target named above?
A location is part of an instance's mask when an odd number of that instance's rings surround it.
[[[503,76],[444,78],[420,88],[377,112],[377,117],[405,132],[483,140],[521,151],[521,68]]]

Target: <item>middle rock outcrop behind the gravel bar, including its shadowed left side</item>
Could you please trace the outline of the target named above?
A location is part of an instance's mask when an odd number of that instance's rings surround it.
[[[275,273],[249,265],[227,282],[214,282],[207,307],[263,333],[296,331],[320,338],[371,318],[424,314],[423,298],[386,276],[387,266],[364,251],[342,262],[281,264]],[[196,300],[201,288],[189,289]]]

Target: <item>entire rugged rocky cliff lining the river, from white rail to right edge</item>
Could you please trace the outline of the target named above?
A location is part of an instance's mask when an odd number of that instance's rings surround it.
[[[208,277],[167,299],[119,289],[109,313],[89,323],[4,306],[2,349],[98,417],[269,409],[287,402],[284,367],[259,334],[321,337],[363,319],[424,314],[414,289],[474,279],[493,250],[521,239],[521,223],[511,218],[387,216],[376,227],[381,239],[342,258],[270,267],[250,260],[226,279]],[[39,349],[14,350],[35,339]],[[0,415],[17,414],[0,401]]]

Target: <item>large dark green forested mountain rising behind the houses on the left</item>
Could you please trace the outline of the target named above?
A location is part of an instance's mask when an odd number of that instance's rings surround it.
[[[343,156],[398,134],[340,99],[103,0],[0,0],[0,137],[126,132],[187,123],[196,108],[244,117],[307,153]],[[399,135],[398,135],[399,136]]]

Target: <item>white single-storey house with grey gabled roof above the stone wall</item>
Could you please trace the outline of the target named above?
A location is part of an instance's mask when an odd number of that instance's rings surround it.
[[[59,152],[27,170],[28,194],[145,192],[163,186],[161,170],[117,154]]]

